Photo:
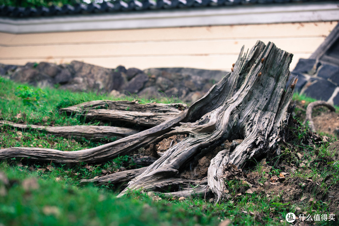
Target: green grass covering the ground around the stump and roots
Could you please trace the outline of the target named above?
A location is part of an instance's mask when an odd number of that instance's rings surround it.
[[[122,100],[55,88],[45,88],[40,92],[27,86],[29,89],[25,90],[40,95],[36,102],[27,104],[19,97],[16,89],[19,85],[0,78],[0,120],[49,126],[97,125],[99,122],[95,120],[60,115],[58,109],[91,100]],[[29,95],[22,96],[27,98]],[[134,99],[136,97],[123,100]],[[304,100],[300,95],[294,99]],[[169,103],[176,100],[138,101]],[[163,196],[156,201],[143,190],[131,190],[123,198],[116,198],[118,186],[79,184],[81,179],[102,176],[107,171],[139,167],[128,156],[102,164],[67,165],[15,158],[0,161],[0,225],[219,225],[224,219],[230,219],[231,225],[288,225],[285,221],[288,212],[332,214],[333,203],[323,200],[338,188],[339,168],[332,161],[335,156],[328,151],[326,144],[309,144],[312,139],[304,125],[291,130],[293,139],[288,145],[281,146],[281,155],[256,162],[253,168],[246,169],[250,176],[226,179],[229,199],[217,204],[209,199],[179,201]],[[25,146],[73,151],[111,142],[60,138],[43,131],[21,131],[10,126],[0,126],[0,132],[0,149]],[[293,167],[297,170],[292,170]],[[288,173],[286,184],[246,192],[251,184],[263,184],[281,173]],[[310,180],[315,183],[311,184]],[[289,199],[288,192],[294,190],[300,190],[299,196]],[[307,198],[301,200],[302,197]],[[315,201],[309,202],[311,198]],[[317,222],[317,225],[325,223],[328,225],[329,222]]]

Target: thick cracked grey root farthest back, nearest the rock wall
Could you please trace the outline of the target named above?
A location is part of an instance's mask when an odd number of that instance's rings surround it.
[[[87,119],[121,121],[153,127],[174,117],[184,109],[187,109],[187,105],[181,103],[139,104],[128,101],[98,100],[61,108],[60,111],[65,111],[68,115],[80,114]]]

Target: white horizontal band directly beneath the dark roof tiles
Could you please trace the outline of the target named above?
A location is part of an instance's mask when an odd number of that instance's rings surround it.
[[[239,5],[209,8],[161,9],[152,11],[95,13],[31,17],[0,17],[0,31],[7,33],[66,32],[79,30],[135,29],[178,26],[263,24],[335,21],[335,2],[303,4]]]

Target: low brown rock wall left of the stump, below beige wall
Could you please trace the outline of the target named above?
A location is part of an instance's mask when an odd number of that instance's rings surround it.
[[[191,68],[103,68],[79,61],[70,64],[41,62],[24,66],[1,65],[0,75],[38,87],[98,91],[114,96],[179,98],[190,103],[201,98],[227,72]]]

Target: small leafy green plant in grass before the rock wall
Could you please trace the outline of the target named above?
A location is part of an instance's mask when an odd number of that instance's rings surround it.
[[[28,86],[19,85],[16,90],[17,91],[15,92],[15,95],[22,98],[24,105],[39,105],[38,100],[40,97],[45,97],[45,93],[41,89],[33,91],[33,89],[29,88]]]

